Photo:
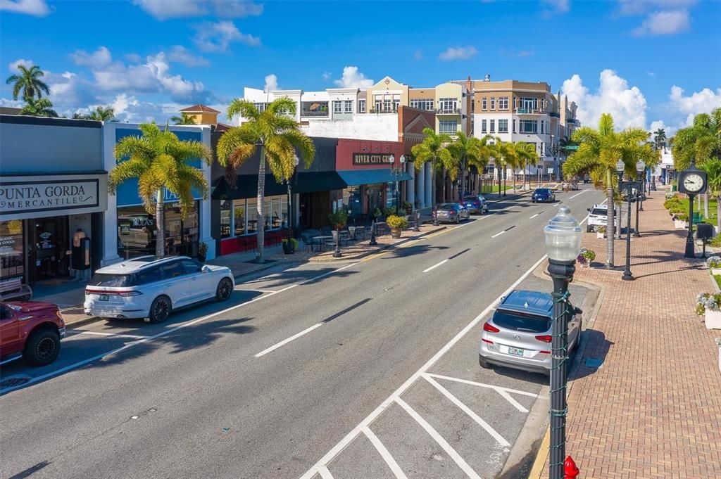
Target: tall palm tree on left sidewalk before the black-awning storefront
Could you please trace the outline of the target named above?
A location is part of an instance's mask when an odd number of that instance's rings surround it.
[[[226,167],[226,179],[231,186],[236,181],[236,169],[260,148],[258,167],[257,218],[265,218],[263,211],[265,196],[265,164],[270,167],[275,179],[280,182],[293,176],[296,169],[296,150],[300,152],[306,168],[313,163],[315,146],[293,120],[296,103],[289,98],[273,100],[259,112],[255,104],[244,99],[234,99],[228,107],[228,117],[240,115],[247,121],[226,131],[218,140],[218,162]],[[290,115],[288,115],[290,114]],[[260,221],[259,225],[264,225]],[[265,261],[265,228],[257,229],[257,260]]]

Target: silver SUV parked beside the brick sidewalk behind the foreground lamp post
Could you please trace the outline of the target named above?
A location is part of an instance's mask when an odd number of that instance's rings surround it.
[[[551,370],[551,323],[553,298],[547,292],[514,290],[503,298],[492,317],[483,325],[478,362],[514,369]],[[582,328],[581,311],[570,303],[568,350],[578,346]]]

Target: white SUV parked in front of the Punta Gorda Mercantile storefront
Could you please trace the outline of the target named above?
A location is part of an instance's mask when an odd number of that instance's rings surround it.
[[[187,256],[141,256],[98,269],[85,288],[87,315],[146,318],[162,323],[173,310],[231,296],[235,280],[226,267]]]

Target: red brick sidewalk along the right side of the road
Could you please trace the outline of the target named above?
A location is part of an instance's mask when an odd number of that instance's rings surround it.
[[[583,479],[721,478],[721,331],[694,314],[696,294],[715,289],[704,262],[683,257],[685,231],[673,230],[662,203],[655,192],[640,215],[635,281],[622,281],[621,271],[576,270],[603,291],[568,398],[566,453]],[[605,240],[588,233],[583,244],[605,263]],[[616,265],[624,264],[625,241],[615,250]],[[603,366],[586,367],[585,358]]]

